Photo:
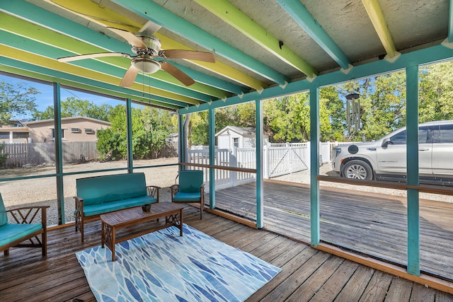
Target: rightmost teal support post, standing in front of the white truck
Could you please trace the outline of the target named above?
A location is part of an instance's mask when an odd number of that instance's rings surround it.
[[[418,178],[418,66],[406,68],[407,184]],[[408,189],[408,273],[420,276],[420,208],[418,189]]]

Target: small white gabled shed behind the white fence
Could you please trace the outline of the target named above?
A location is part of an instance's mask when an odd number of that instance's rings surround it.
[[[226,126],[215,134],[219,149],[256,148],[256,130],[253,127]],[[268,136],[263,135],[268,143]]]

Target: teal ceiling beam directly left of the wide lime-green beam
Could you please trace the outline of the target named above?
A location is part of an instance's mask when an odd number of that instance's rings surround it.
[[[269,66],[259,62],[253,57],[244,54],[240,50],[228,45],[228,43],[220,40],[218,37],[206,33],[205,30],[197,27],[196,25],[176,16],[174,13],[167,11],[165,8],[153,1],[148,0],[112,0],[129,11],[137,13],[137,15],[153,21],[164,28],[185,37],[186,39],[205,47],[207,50],[214,51],[222,57],[225,57],[232,62],[243,66],[244,68],[259,74],[260,76],[269,79],[280,85],[285,85],[289,79],[280,74],[280,72],[271,69]]]

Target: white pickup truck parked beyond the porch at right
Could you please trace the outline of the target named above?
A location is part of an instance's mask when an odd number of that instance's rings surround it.
[[[420,182],[453,184],[453,120],[418,127]],[[406,179],[406,127],[377,141],[344,144],[332,149],[332,168],[343,178]]]

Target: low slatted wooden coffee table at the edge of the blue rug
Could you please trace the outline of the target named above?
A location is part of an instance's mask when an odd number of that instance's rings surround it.
[[[179,214],[179,219],[178,219]],[[154,228],[132,233],[122,238],[116,237],[116,231],[127,226],[135,226],[139,223],[156,220],[165,217],[165,224]],[[180,236],[183,236],[183,206],[173,202],[158,202],[151,204],[151,211],[145,212],[142,207],[134,207],[101,215],[102,221],[102,248],[106,245],[112,251],[112,260],[115,261],[115,244],[129,240],[147,233],[159,231],[170,226],[178,226]]]

